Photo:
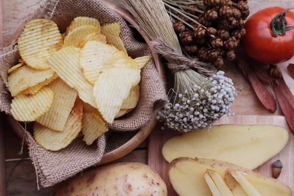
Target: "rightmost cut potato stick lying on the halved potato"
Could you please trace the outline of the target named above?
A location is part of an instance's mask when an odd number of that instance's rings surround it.
[[[239,182],[248,196],[261,196],[260,193],[246,180],[242,173],[237,170],[228,169],[231,175]]]

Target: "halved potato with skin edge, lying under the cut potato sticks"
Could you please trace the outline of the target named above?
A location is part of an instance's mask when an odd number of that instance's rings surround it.
[[[292,196],[292,190],[283,182],[256,173],[244,167],[224,161],[181,157],[169,165],[169,178],[179,196],[211,196],[203,174],[209,170],[218,172],[224,179],[227,169],[238,170],[262,196]]]

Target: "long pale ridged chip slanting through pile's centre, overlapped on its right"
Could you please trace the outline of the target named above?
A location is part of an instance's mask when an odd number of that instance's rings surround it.
[[[63,81],[77,90],[79,98],[96,107],[93,85],[85,79],[79,66],[80,50],[74,47],[60,49],[48,59],[48,64]]]

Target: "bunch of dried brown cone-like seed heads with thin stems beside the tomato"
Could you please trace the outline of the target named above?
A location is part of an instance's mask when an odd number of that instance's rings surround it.
[[[188,55],[214,64],[221,70],[226,57],[235,59],[235,49],[246,31],[249,15],[246,0],[163,0]]]

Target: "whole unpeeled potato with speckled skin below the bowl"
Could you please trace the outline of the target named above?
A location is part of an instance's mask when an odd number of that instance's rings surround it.
[[[67,181],[55,196],[167,196],[167,186],[149,166],[117,163],[84,172]]]

